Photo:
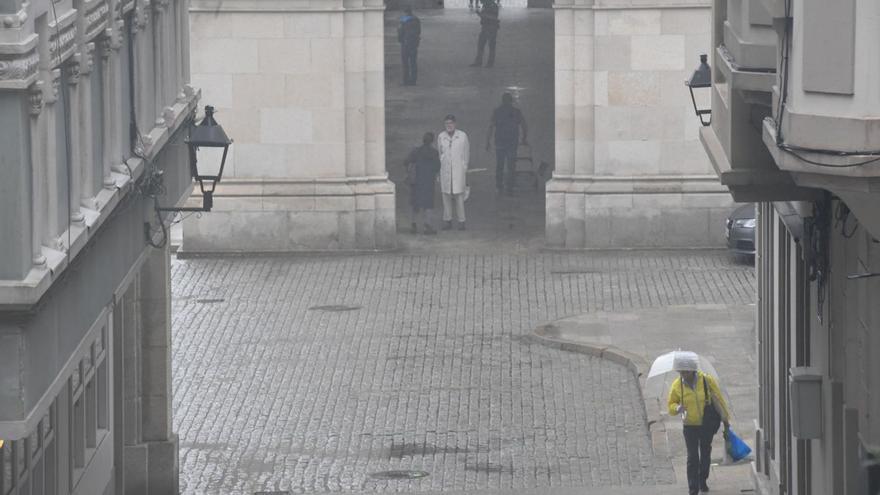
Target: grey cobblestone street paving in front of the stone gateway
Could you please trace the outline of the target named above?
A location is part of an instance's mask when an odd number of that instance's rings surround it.
[[[723,252],[175,261],[182,493],[672,481],[636,378],[524,339],[595,310],[753,302]],[[419,470],[417,480],[370,473]]]

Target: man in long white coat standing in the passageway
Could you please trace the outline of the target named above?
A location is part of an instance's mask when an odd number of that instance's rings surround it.
[[[443,193],[443,230],[452,228],[452,210],[456,211],[458,230],[464,230],[464,196],[471,144],[467,134],[455,128],[455,116],[447,115],[446,130],[437,136],[440,152],[440,191]]]

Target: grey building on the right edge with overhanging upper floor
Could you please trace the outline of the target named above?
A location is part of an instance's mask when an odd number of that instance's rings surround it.
[[[756,487],[880,493],[880,6],[716,1],[712,125],[757,203]]]

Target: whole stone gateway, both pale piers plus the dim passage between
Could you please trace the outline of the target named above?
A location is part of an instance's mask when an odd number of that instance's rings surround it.
[[[401,159],[448,112],[472,135],[472,167],[488,169],[471,174],[468,238],[574,249],[723,242],[730,196],[682,85],[710,46],[705,6],[505,7],[491,70],[467,67],[475,16],[435,10],[423,14],[420,85],[401,87],[397,13],[383,0],[191,5],[193,82],[236,141],[214,213],[184,224],[184,251],[417,247],[422,238],[397,229],[409,224]],[[553,176],[542,195],[496,201],[485,132],[506,86],[523,88],[534,157]]]

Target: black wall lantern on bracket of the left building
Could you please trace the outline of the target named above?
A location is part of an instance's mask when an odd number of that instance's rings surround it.
[[[189,147],[190,174],[199,183],[199,189],[202,190],[202,206],[159,208],[160,211],[211,211],[211,208],[214,206],[214,189],[223,177],[226,154],[229,152],[229,145],[232,144],[232,140],[226,135],[226,131],[214,119],[214,107],[205,105],[205,118],[198,125],[190,127],[189,139],[186,140],[186,144]],[[205,165],[202,165],[200,169],[199,150],[201,148],[212,148],[218,152],[221,148],[223,149],[223,155],[218,168],[208,170]]]

